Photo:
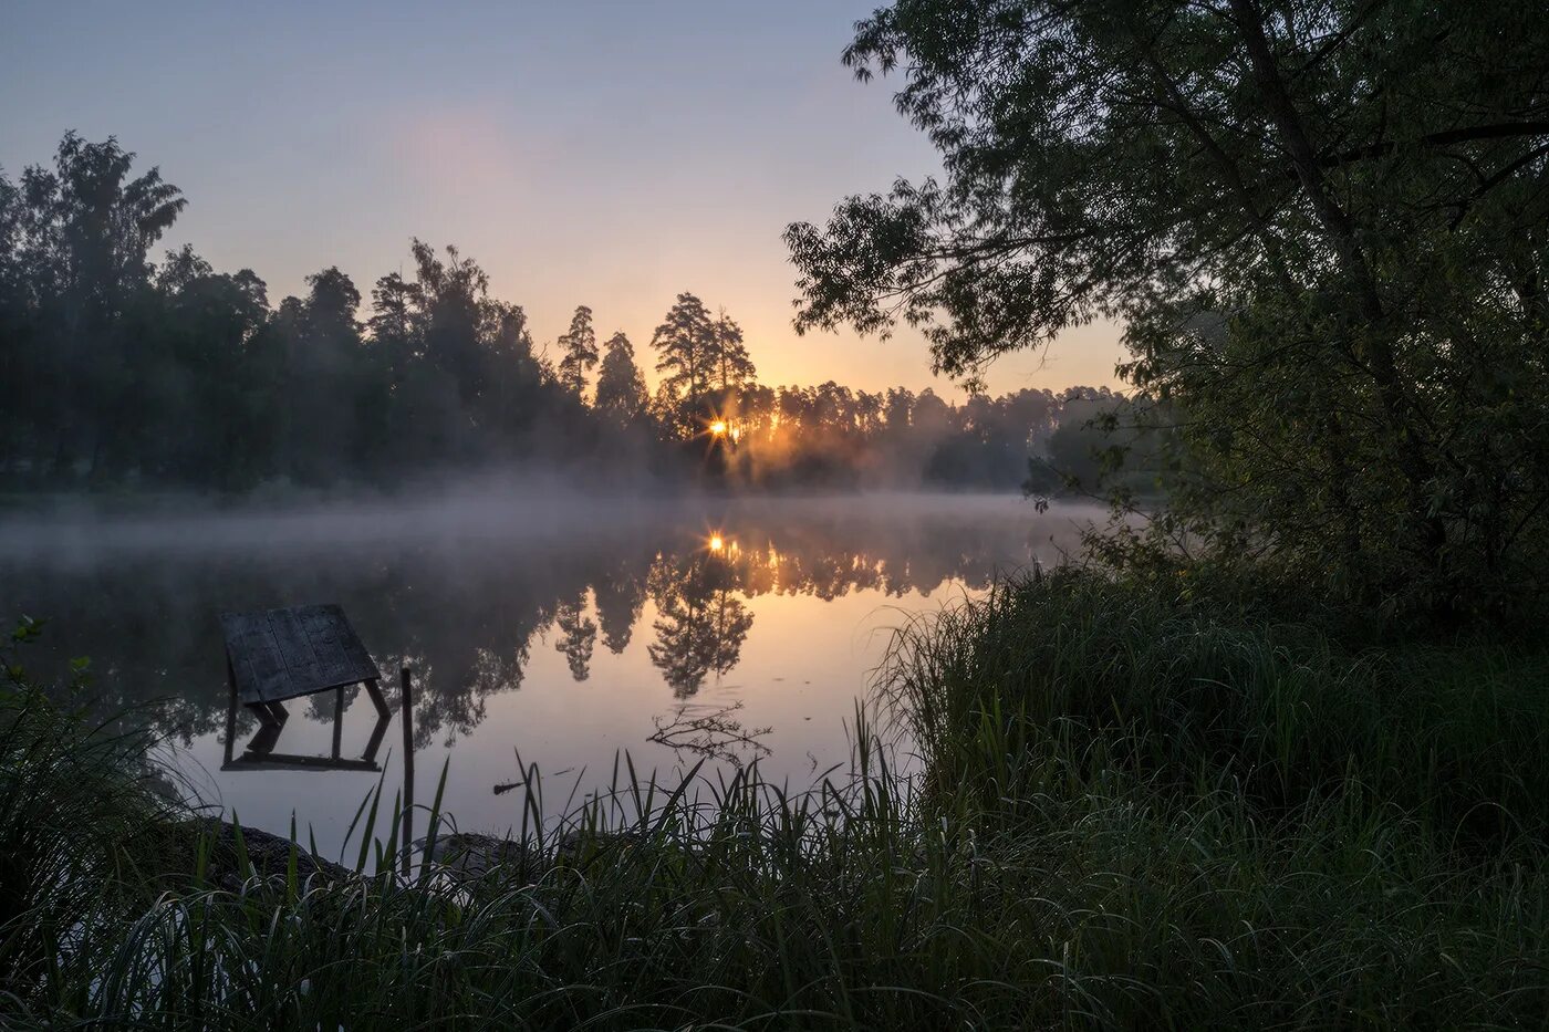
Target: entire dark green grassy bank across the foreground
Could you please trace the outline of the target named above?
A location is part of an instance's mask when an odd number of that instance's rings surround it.
[[[488,872],[268,877],[25,685],[5,700],[9,1023],[141,1027],[1538,1027],[1549,655],[1355,646],[1067,573],[897,642],[787,796],[615,793]],[[678,790],[680,789],[680,790]],[[358,840],[390,826],[390,798]],[[640,817],[644,814],[644,817]],[[579,832],[576,831],[579,829]],[[386,866],[386,865],[384,865]],[[222,872],[235,871],[237,885]],[[246,877],[243,877],[246,875]],[[96,1026],[101,1027],[101,1026]]]

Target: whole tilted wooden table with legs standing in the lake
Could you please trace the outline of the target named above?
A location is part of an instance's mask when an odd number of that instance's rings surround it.
[[[370,652],[338,606],[293,606],[262,612],[223,612],[220,628],[226,635],[226,679],[231,707],[226,713],[226,756],[223,769],[304,767],[376,770],[376,748],[387,733],[387,702],[381,693],[381,673]],[[361,759],[344,759],[344,690],[361,685],[376,707],[376,727]],[[333,756],[290,756],[274,753],[274,742],[290,716],[287,699],[333,690]],[[246,752],[232,759],[237,736],[237,705],[257,714],[263,725]]]

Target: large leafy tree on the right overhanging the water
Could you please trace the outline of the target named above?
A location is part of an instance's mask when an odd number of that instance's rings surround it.
[[[1355,598],[1530,597],[1546,46],[1527,3],[900,0],[846,62],[903,70],[946,178],[788,228],[798,329],[903,319],[974,380],[1121,318],[1191,468],[1157,533]]]

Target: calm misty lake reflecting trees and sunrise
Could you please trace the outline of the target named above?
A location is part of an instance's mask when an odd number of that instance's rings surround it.
[[[757,762],[809,787],[844,765],[891,631],[1058,562],[1103,513],[1038,513],[1005,496],[609,499],[555,488],[460,491],[417,504],[0,522],[6,620],[48,620],[23,655],[56,673],[91,659],[91,693],[133,707],[163,761],[245,824],[294,817],[338,855],[361,800],[401,778],[398,669],[414,669],[417,801],[448,764],[463,831],[522,820],[524,770],[550,815],[612,781],[627,755],[658,779],[699,761]],[[338,603],[392,708],[381,770],[293,769],[331,758],[335,694],[287,703],[279,736],[237,711],[226,764],[225,611]],[[341,758],[376,714],[350,691]],[[259,752],[248,752],[249,744]],[[898,762],[908,765],[903,742]],[[226,769],[223,769],[223,765]]]

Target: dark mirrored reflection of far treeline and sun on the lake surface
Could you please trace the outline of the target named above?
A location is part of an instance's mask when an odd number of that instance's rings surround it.
[[[977,589],[1033,555],[1024,522],[942,518],[900,527],[836,508],[801,521],[728,516],[717,552],[697,528],[637,528],[539,545],[12,562],[0,581],[11,586],[15,612],[51,618],[45,654],[91,655],[105,705],[155,700],[160,730],[184,742],[225,722],[218,612],[338,601],[362,640],[383,649],[384,671],[400,662],[415,668],[415,731],[426,745],[471,731],[491,697],[516,691],[534,642],[551,640],[570,674],[586,680],[598,640],[624,652],[649,618],[651,663],[686,699],[736,668],[754,623],[750,603],[762,595],[929,595],[946,581]],[[397,677],[389,674],[384,690],[397,708]]]

